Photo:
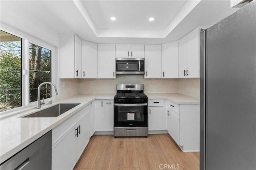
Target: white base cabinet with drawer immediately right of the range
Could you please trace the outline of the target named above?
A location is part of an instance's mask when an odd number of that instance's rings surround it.
[[[148,100],[148,130],[164,130],[164,100]]]

